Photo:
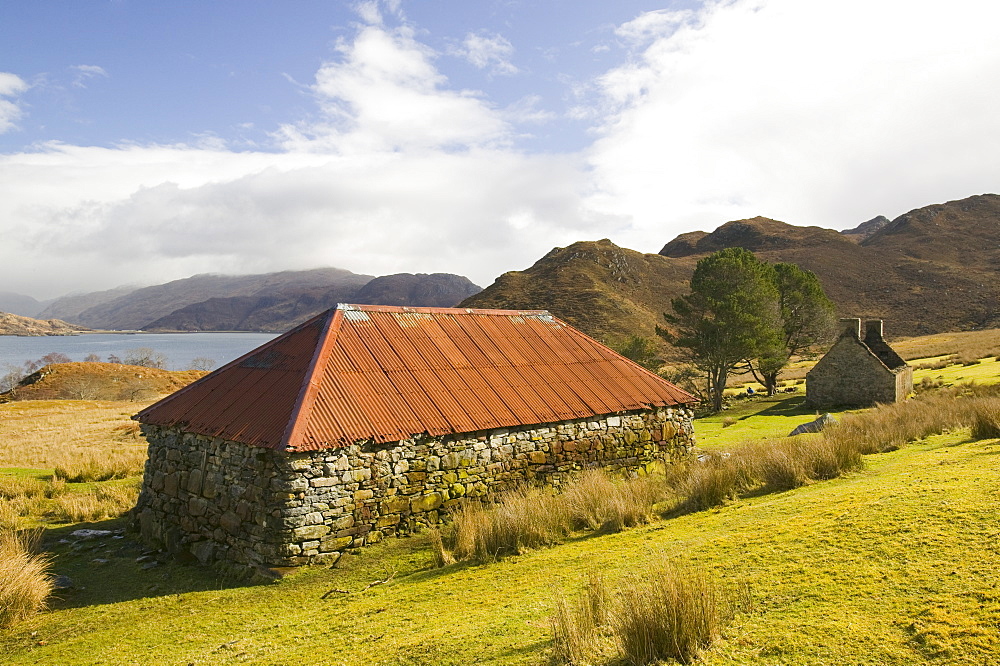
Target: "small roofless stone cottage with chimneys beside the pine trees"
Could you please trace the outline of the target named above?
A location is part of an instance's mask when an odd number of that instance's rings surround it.
[[[806,402],[868,407],[905,400],[913,368],[882,338],[882,320],[841,319],[840,337],[806,375]]]

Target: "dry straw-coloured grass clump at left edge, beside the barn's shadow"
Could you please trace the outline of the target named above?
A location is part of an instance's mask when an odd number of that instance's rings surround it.
[[[45,607],[52,592],[49,559],[34,551],[40,532],[0,530],[0,629]]]

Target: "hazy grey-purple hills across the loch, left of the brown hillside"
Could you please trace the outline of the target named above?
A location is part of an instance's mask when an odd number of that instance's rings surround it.
[[[479,291],[459,275],[373,277],[340,268],[195,275],[151,287],[65,296],[39,317],[94,329],[284,331],[338,302],[453,306]]]

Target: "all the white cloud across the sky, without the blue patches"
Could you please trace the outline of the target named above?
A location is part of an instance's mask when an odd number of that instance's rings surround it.
[[[617,32],[628,62],[592,83],[600,103],[577,90],[574,117],[597,132],[582,156],[515,150],[522,124],[551,118],[537,97],[499,108],[453,86],[413,28],[367,22],[317,72],[316,117],[282,126],[273,152],[206,135],[0,155],[5,288],[320,265],[486,285],[575,240],[656,251],[741,217],[844,228],[995,192],[997,19],[973,0],[642,15]],[[26,89],[0,74],[0,101]],[[0,107],[0,128],[15,119]]]

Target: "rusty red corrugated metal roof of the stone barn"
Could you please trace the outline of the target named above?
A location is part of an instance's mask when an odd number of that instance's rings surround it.
[[[544,311],[340,305],[136,418],[304,451],[694,401]]]

